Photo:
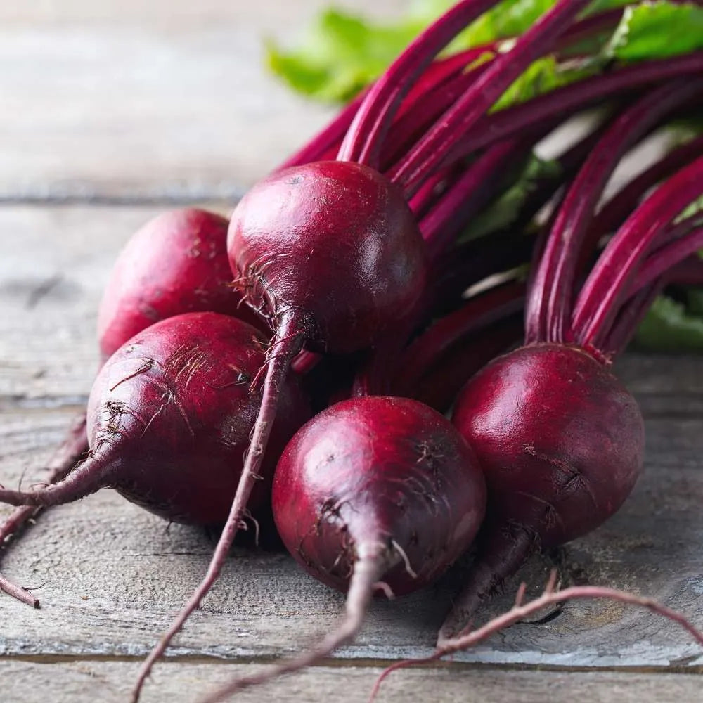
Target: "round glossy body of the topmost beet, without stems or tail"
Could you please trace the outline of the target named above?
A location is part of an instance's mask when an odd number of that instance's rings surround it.
[[[274,327],[294,309],[318,351],[368,347],[425,286],[425,244],[401,191],[352,162],[257,183],[232,215],[227,246],[247,302]]]

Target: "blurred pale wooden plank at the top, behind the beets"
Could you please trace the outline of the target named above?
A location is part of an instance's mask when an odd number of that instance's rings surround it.
[[[1,5],[0,201],[231,199],[331,114],[262,63],[323,0]]]

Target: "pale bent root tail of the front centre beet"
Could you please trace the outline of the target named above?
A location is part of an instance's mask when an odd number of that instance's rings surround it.
[[[268,671],[235,678],[217,691],[200,699],[200,703],[218,703],[244,688],[250,688],[286,673],[294,673],[328,657],[334,650],[352,640],[363,624],[366,609],[381,576],[402,560],[394,546],[381,541],[361,543],[357,548],[354,573],[347,591],[346,613],[335,631],[328,633],[318,645],[294,659],[276,664]]]

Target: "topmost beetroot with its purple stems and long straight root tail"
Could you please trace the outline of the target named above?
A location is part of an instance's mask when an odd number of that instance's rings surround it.
[[[482,116],[535,58],[552,49],[588,0],[557,2],[510,51],[499,53],[485,70],[477,71],[475,81],[443,115],[426,116],[432,124],[423,128],[425,135],[404,145],[406,153],[389,169],[388,177],[381,174],[380,169],[386,168],[386,136],[413,82],[468,22],[493,4],[489,0],[459,2],[408,47],[361,100],[337,161],[321,158],[276,172],[254,186],[236,208],[228,233],[236,283],[247,303],[275,330],[262,366],[261,410],[207,574],[144,662],[133,699],[138,698],[153,663],[219,576],[247,508],[276,417],[278,392],[293,356],[301,349],[349,354],[387,345],[394,333],[403,340],[413,333],[415,308],[425,303],[421,298],[427,264],[406,201],[422,193],[418,208],[432,212],[435,195],[444,187],[442,174],[453,177],[452,169],[465,167],[464,155],[456,154],[481,131]],[[647,80],[651,78],[648,75]],[[579,98],[578,104],[585,99]],[[560,108],[553,105],[548,116],[559,113]],[[324,136],[327,146],[341,124],[344,120]],[[530,135],[539,131],[531,123],[529,129],[524,127],[513,124],[509,136],[515,138],[492,148],[485,161],[482,157],[484,173],[499,172],[514,149],[524,154],[526,144],[529,146],[524,131]],[[415,134],[415,129],[408,134]],[[462,185],[476,181],[479,172],[481,169],[473,172]],[[428,183],[437,185],[437,191],[427,188]],[[451,235],[444,224],[458,207],[452,200],[446,210],[439,210],[441,226],[432,237],[437,244],[433,258],[449,245]]]

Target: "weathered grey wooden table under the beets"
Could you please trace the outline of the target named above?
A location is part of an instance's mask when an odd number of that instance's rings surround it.
[[[101,289],[117,252],[166,206],[221,212],[323,124],[261,68],[260,37],[321,0],[40,0],[0,4],[0,476],[41,478],[96,368]],[[390,13],[400,0],[365,0]],[[96,7],[97,6],[97,7]],[[694,358],[619,365],[647,422],[643,479],[588,538],[534,559],[565,583],[652,595],[703,627],[703,373]],[[0,508],[0,517],[6,508]],[[212,540],[111,491],[56,508],[3,554],[41,610],[0,595],[0,701],[124,701],[138,662],[202,576]],[[355,645],[245,701],[366,700],[381,667],[430,652],[460,574],[377,602]],[[510,605],[517,580],[491,612]],[[333,625],[342,598],[280,553],[238,550],[155,670],[145,701],[191,701]],[[650,614],[578,602],[451,664],[400,672],[382,701],[699,701],[703,651]]]

